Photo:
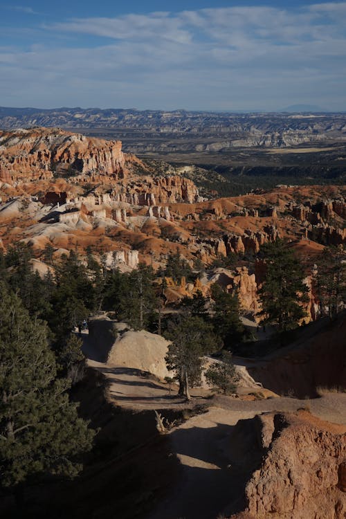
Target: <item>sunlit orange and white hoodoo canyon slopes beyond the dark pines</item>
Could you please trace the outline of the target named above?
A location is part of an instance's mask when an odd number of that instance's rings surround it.
[[[84,255],[92,246],[109,266],[121,268],[136,268],[138,262],[159,268],[176,251],[191,265],[199,260],[207,266],[235,254],[243,259],[221,282],[239,287],[244,311],[255,316],[261,264],[250,266],[246,258],[263,244],[289,239],[306,258],[318,255],[322,244],[345,244],[343,186],[277,185],[208,200],[176,170],[152,175],[140,159],[123,153],[118,141],[35,128],[2,131],[0,143],[0,243],[30,244],[37,264],[48,244],[54,257],[71,246]],[[177,297],[197,289],[208,293],[213,275],[198,286],[176,286]],[[309,276],[307,271],[308,285]],[[312,293],[310,299],[313,319],[318,310]]]

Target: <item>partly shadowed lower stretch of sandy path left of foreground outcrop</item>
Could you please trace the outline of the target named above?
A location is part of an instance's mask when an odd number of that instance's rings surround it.
[[[178,484],[146,519],[216,519],[241,494],[242,477],[229,465],[225,442],[230,427],[253,411],[211,408],[170,433],[172,453],[182,465]]]

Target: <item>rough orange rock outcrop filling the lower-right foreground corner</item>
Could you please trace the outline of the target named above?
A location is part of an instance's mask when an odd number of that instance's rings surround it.
[[[233,519],[343,519],[346,426],[298,411],[253,419],[263,461]]]

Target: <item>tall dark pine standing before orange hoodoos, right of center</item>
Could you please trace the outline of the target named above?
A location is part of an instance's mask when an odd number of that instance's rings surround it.
[[[279,331],[293,329],[306,316],[302,307],[307,302],[304,269],[298,258],[279,239],[262,247],[266,277],[259,291],[264,323],[277,325]]]

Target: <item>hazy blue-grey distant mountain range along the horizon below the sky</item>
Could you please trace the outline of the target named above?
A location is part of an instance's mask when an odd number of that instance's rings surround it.
[[[215,113],[0,107],[0,128],[72,129],[90,136],[120,139],[125,151],[139,154],[223,152],[234,147],[290,147],[346,141],[345,113],[311,113],[302,104],[286,111],[293,108],[294,113]]]

